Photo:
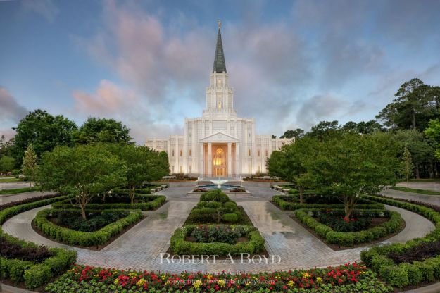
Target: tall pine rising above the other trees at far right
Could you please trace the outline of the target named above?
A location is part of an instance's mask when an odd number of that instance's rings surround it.
[[[377,119],[384,121],[384,125],[394,129],[424,130],[432,115],[430,99],[434,92],[428,85],[413,78],[404,82],[398,89],[396,99],[386,105]]]

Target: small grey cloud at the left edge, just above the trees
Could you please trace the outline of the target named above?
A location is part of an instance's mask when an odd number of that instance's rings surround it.
[[[26,108],[20,106],[7,89],[0,87],[0,123],[18,123],[26,115]]]

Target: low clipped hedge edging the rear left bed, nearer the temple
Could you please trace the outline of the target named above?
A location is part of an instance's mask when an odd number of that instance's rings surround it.
[[[165,204],[166,197],[163,195],[145,195],[145,194],[137,194],[135,199],[149,199],[150,201],[142,202],[142,203],[115,203],[115,204],[87,204],[87,209],[92,210],[108,210],[108,209],[135,209],[141,211],[151,211],[159,206]],[[71,209],[71,208],[79,208],[70,204],[70,199],[66,199],[64,201],[57,202],[52,205],[53,208],[63,208],[63,209]]]

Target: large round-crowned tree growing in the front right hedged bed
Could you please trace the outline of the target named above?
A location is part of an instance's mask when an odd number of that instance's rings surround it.
[[[389,135],[344,133],[316,142],[305,163],[307,180],[322,194],[337,196],[349,218],[360,195],[379,192],[396,182],[400,162]]]

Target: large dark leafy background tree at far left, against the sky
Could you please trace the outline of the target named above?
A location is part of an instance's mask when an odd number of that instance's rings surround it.
[[[73,130],[77,126],[62,115],[51,116],[46,111],[35,110],[27,114],[14,129],[17,132],[14,158],[21,163],[25,149],[31,143],[38,158],[44,151],[51,151],[56,146],[71,146]]]

